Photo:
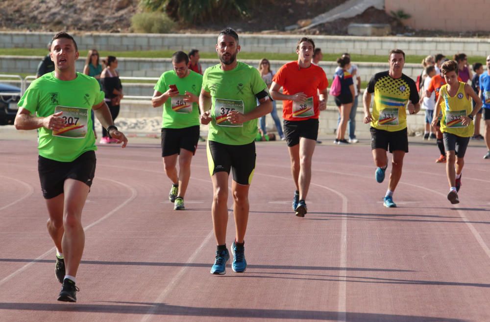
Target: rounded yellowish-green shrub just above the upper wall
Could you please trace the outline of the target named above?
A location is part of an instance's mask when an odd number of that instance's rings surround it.
[[[165,34],[172,31],[175,23],[161,12],[137,13],[131,18],[131,28],[134,32]]]

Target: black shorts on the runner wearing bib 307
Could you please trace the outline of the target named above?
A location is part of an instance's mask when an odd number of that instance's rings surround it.
[[[72,162],[60,162],[39,156],[37,167],[45,199],[54,198],[64,192],[67,179],[74,179],[89,187],[95,175],[95,151],[87,151]]]

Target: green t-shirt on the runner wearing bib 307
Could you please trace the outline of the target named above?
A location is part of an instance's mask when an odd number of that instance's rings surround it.
[[[55,78],[54,72],[34,80],[19,101],[20,107],[40,117],[54,114],[57,106],[72,108],[61,115],[67,122],[64,133],[53,136],[53,131],[39,128],[39,155],[71,162],[86,151],[97,150],[91,111],[103,100],[97,79],[79,72],[71,81]]]

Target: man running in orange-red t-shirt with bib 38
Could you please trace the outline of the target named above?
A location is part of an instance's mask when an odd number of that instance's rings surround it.
[[[311,160],[318,138],[319,114],[327,107],[328,80],[321,67],[312,63],[315,43],[301,38],[296,46],[298,60],[283,65],[272,79],[270,94],[282,100],[284,135],[291,157],[296,191],[293,210],[298,217],[307,212],[306,195],[311,181]],[[283,88],[282,92],[279,90]]]

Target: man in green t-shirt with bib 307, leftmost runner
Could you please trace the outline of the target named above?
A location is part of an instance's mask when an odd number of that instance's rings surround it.
[[[85,244],[81,214],[96,167],[91,110],[123,147],[127,138],[114,126],[97,80],[75,71],[73,37],[57,33],[50,55],[54,71],[31,83],[14,124],[18,130],[39,131],[39,178],[56,246],[55,274],[63,284],[58,300],[76,302],[75,276]]]

